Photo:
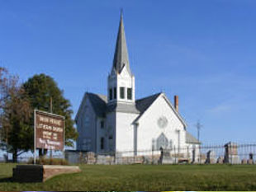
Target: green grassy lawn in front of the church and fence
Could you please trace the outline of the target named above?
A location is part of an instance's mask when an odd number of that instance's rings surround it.
[[[0,163],[0,190],[256,190],[254,165],[80,165],[80,173],[25,184],[12,182],[14,166]]]

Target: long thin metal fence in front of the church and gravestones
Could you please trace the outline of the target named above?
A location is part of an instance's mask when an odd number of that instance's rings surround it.
[[[66,151],[71,163],[85,164],[256,164],[256,144],[186,146],[123,152]]]

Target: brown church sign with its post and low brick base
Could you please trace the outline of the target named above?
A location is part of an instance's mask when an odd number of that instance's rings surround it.
[[[64,116],[34,110],[34,164],[17,165],[12,169],[12,180],[44,182],[52,176],[80,172],[79,166],[36,165],[36,148],[64,150]]]

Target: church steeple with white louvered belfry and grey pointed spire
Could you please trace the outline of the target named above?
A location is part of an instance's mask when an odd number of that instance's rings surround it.
[[[130,71],[124,21],[121,12],[111,73],[107,77],[107,104],[112,110],[135,109],[135,77]],[[126,106],[124,106],[126,105]],[[121,107],[121,108],[120,108]]]

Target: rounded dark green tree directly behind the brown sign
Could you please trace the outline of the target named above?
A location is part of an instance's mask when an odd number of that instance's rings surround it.
[[[72,140],[78,137],[78,133],[73,128],[73,110],[54,79],[45,74],[35,75],[23,84],[23,88],[33,109],[50,112],[50,99],[52,99],[52,112],[65,117],[65,145],[73,146]],[[31,124],[32,122],[33,119]]]

